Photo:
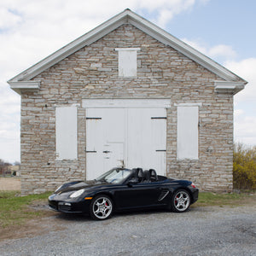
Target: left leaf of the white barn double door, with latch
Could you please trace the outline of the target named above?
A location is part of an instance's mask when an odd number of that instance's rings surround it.
[[[86,109],[86,179],[124,166],[125,115],[122,108]]]

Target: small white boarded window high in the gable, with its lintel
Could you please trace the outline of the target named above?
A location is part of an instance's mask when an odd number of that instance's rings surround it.
[[[119,77],[137,77],[137,50],[140,48],[116,48],[119,53]]]

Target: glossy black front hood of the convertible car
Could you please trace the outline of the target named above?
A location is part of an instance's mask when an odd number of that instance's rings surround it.
[[[91,189],[91,188],[95,188],[98,186],[102,186],[102,185],[107,185],[109,183],[106,182],[100,182],[100,181],[96,181],[96,180],[87,180],[87,181],[77,181],[77,182],[72,182],[72,183],[65,183],[61,186],[60,189],[57,189],[55,191],[56,194],[61,194],[64,192],[69,192],[69,191],[75,191],[75,190],[79,190],[79,189]]]

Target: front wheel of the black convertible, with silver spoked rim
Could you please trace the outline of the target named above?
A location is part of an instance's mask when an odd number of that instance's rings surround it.
[[[113,201],[108,195],[97,195],[90,203],[90,217],[105,220],[111,217]]]

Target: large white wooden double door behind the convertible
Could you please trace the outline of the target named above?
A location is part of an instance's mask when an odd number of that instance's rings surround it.
[[[113,167],[166,172],[166,108],[87,108],[86,178]]]

